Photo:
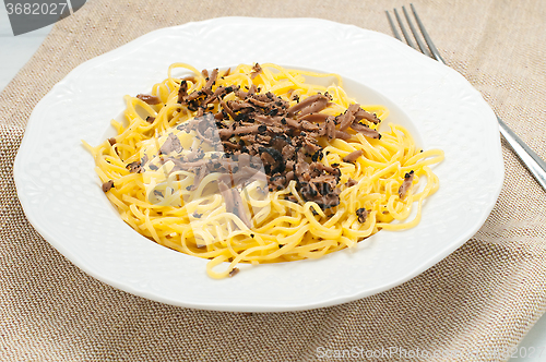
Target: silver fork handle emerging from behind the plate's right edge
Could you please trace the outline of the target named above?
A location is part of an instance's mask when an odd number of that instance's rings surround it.
[[[546,162],[535,152],[520,138],[508,125],[497,116],[500,134],[508,142],[510,148],[520,157],[523,165],[534,176],[536,181],[546,190]]]

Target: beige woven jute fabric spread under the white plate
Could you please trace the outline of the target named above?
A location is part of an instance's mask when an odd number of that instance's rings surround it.
[[[546,2],[413,2],[448,64],[546,158]],[[199,311],[119,291],[51,248],[16,196],[12,166],[31,111],[88,59],[150,31],[228,15],[321,17],[390,34],[384,10],[402,4],[92,0],[57,23],[0,94],[0,360],[507,360],[496,352],[517,346],[546,307],[546,193],[506,145],[498,203],[463,246],[389,291],[295,313]]]

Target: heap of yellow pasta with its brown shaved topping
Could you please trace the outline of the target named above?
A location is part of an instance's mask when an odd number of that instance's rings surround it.
[[[191,75],[175,77],[180,69]],[[213,278],[412,228],[439,188],[430,166],[442,150],[418,148],[401,125],[379,132],[389,110],[358,105],[336,74],[175,63],[126,102],[115,137],[83,142],[103,191],[144,237],[210,260]]]

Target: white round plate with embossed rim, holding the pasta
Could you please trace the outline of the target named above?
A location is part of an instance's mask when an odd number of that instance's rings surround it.
[[[425,148],[444,150],[435,168],[440,190],[414,229],[383,230],[355,251],[318,261],[246,267],[235,278],[210,279],[205,260],[157,245],[121,221],[81,145],[104,141],[110,119],[124,108],[123,95],[150,92],[177,61],[198,69],[274,62],[366,84],[405,111]],[[95,278],[175,305],[266,312],[353,301],[440,262],[487,218],[503,164],[497,121],[478,92],[402,43],[323,20],[225,17],[150,33],[73,70],[34,109],[14,177],[36,230]]]

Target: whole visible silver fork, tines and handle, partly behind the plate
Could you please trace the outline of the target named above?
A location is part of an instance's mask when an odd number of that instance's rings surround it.
[[[428,49],[425,46],[425,44],[422,40],[422,37],[418,35],[414,23],[412,19],[410,17],[410,14],[407,13],[406,9],[402,7],[402,11],[404,12],[404,16],[406,19],[407,25],[410,26],[410,29],[413,33],[413,36],[415,40],[417,41],[418,48],[415,46],[415,43],[412,40],[410,34],[406,32],[406,28],[404,26],[404,23],[402,22],[401,16],[399,15],[399,12],[396,9],[394,9],[394,16],[396,17],[396,21],[399,23],[400,29],[402,31],[402,34],[404,35],[404,38],[406,39],[406,43],[408,46],[412,48],[419,50],[432,58],[439,61],[442,64],[446,64],[443,61],[442,57],[438,52],[438,49],[435,47],[432,40],[430,39],[430,36],[428,35],[427,31],[425,29],[425,26],[423,25],[419,16],[417,15],[417,12],[415,11],[415,8],[413,4],[410,4],[412,7],[412,12],[415,17],[415,21],[417,22],[417,25],[419,26],[420,33],[423,34],[423,38],[425,38],[426,44],[428,45]],[[394,22],[392,21],[392,17],[389,13],[389,11],[385,11],[387,17],[389,19],[389,23],[391,24],[392,33],[394,34],[394,37],[399,40],[402,41],[402,38],[396,31],[396,26],[394,26]],[[500,129],[500,134],[505,137],[507,141],[508,145],[512,150],[518,155],[518,157],[521,159],[523,165],[529,169],[529,171],[534,176],[536,181],[543,186],[543,189],[546,191],[546,162],[537,155],[535,154],[515,133],[512,132],[508,128],[508,125],[497,116],[497,120],[499,121],[499,129]]]

